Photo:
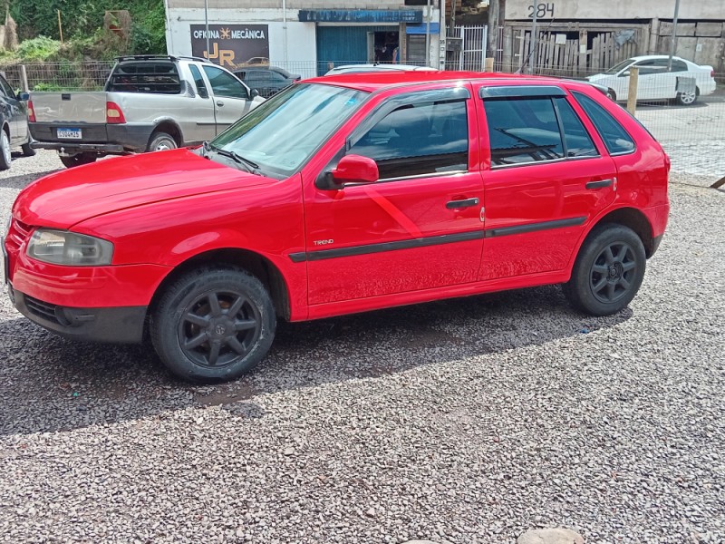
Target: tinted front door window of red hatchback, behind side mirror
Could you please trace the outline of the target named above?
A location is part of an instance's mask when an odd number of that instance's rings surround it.
[[[375,160],[381,180],[468,170],[466,102],[402,105],[363,134],[348,154]]]

